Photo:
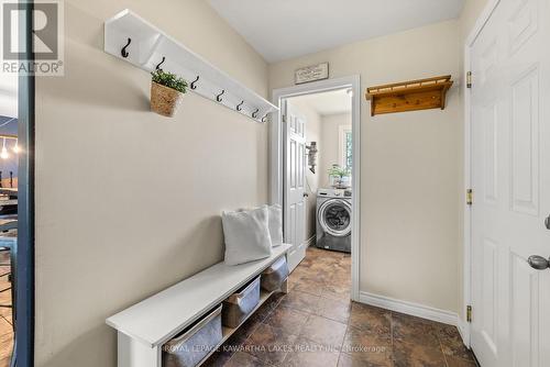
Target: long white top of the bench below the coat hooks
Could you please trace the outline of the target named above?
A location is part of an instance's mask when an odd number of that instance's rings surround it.
[[[260,275],[292,245],[273,248],[272,256],[237,266],[218,263],[138,304],[119,312],[107,324],[150,347],[161,346]]]

